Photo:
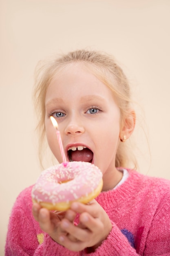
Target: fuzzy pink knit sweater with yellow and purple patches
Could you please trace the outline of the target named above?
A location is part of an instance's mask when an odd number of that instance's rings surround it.
[[[6,256],[85,256],[72,252],[44,233],[32,215],[32,186],[18,196],[12,209]],[[117,189],[96,198],[113,228],[91,256],[170,255],[170,181],[130,171]]]

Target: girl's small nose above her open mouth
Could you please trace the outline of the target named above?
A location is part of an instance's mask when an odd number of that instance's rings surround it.
[[[73,120],[67,124],[64,130],[66,135],[81,135],[84,131],[84,126]]]

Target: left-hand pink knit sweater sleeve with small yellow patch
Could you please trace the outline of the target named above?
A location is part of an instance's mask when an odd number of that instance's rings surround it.
[[[32,215],[31,188],[18,196],[9,219],[5,256],[79,256],[44,233]]]

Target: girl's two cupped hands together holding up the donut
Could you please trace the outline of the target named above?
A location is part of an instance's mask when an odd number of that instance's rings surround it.
[[[75,226],[77,213],[80,222]],[[74,202],[71,209],[58,214],[34,204],[33,216],[54,241],[73,251],[82,251],[86,247],[95,250],[112,229],[107,213],[95,200],[90,204]]]

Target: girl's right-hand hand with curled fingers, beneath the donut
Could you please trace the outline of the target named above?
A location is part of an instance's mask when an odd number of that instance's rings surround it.
[[[73,251],[81,251],[86,247],[95,250],[112,229],[107,213],[96,200],[90,204],[73,202],[69,211],[74,216],[80,213],[80,223],[75,226],[67,216],[62,219],[61,229],[65,233],[60,234],[60,244]]]

